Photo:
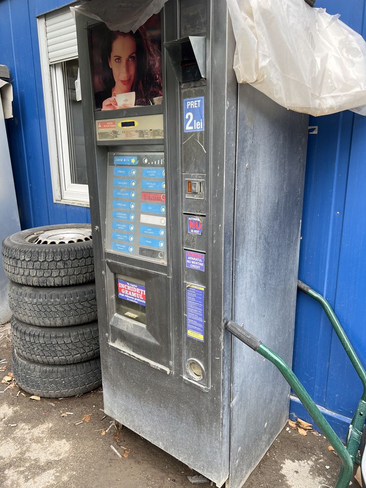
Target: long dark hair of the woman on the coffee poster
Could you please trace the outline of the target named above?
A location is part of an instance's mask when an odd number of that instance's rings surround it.
[[[154,48],[143,26],[135,34],[132,31],[108,31],[102,44],[102,83],[106,90],[112,90],[116,83],[108,58],[111,56],[113,41],[120,36],[131,36],[136,41],[137,69],[132,89],[136,92],[136,104],[147,105],[149,100],[163,95],[163,87],[161,54]]]

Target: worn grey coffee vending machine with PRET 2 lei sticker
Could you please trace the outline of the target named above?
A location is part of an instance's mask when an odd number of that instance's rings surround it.
[[[224,324],[291,363],[307,116],[238,85],[225,0],[76,20],[105,412],[239,488],[290,391]]]

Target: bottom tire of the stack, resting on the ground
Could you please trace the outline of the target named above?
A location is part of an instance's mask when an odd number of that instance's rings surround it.
[[[18,386],[32,395],[64,398],[81,395],[102,384],[100,358],[71,365],[42,365],[21,358],[13,349],[12,362]]]

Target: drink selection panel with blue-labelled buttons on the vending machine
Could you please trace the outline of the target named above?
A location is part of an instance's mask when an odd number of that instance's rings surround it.
[[[166,264],[164,153],[108,153],[106,249]]]

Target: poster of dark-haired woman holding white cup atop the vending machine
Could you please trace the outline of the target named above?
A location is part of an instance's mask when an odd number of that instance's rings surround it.
[[[162,29],[153,15],[135,33],[90,28],[95,108],[126,109],[163,103]]]

